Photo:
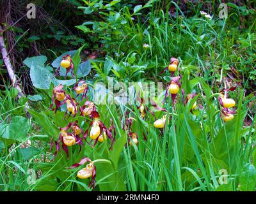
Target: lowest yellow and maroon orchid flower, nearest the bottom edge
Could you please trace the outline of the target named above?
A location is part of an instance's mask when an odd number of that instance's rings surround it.
[[[81,170],[79,170],[77,172],[77,177],[79,179],[88,179],[88,178],[92,177],[92,180],[89,183],[88,187],[92,186],[93,190],[94,190],[94,188],[95,188],[95,177],[96,177],[96,167],[93,164],[93,162],[91,161],[91,159],[89,159],[88,157],[84,157],[83,159],[81,159],[79,161],[79,163],[73,164],[68,169],[77,168],[78,166],[81,166],[81,165],[83,165],[85,163],[89,163],[89,164],[87,164],[85,168],[82,168]]]

